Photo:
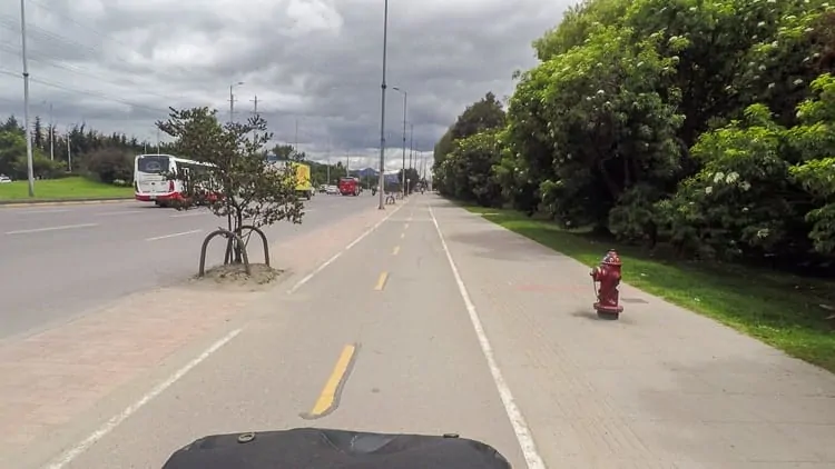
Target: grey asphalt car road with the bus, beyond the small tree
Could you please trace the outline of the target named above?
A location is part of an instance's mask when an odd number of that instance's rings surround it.
[[[271,241],[304,236],[373,204],[371,196],[317,194],[302,224],[266,229]],[[0,339],[42,330],[125,295],[197,271],[203,237],[225,220],[143,202],[0,207]],[[215,242],[208,265],[223,258]],[[258,242],[253,259],[262,259]]]

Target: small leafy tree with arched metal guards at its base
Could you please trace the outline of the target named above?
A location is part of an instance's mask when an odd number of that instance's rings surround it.
[[[244,236],[255,231],[264,243],[266,265],[269,251],[266,234],[259,227],[278,221],[301,223],[304,203],[296,194],[292,171],[267,162],[264,146],[272,139],[266,121],[259,116],[244,123],[222,124],[217,111],[209,108],[177,110],[157,127],[175,139],[174,152],[202,164],[178,164],[169,179],[184,182],[178,210],[206,206],[217,217],[226,218],[226,228],[209,233],[203,242],[200,271],[205,273],[206,247],[215,237],[227,239],[224,263],[243,265],[249,273]],[[248,238],[248,237],[247,237]]]

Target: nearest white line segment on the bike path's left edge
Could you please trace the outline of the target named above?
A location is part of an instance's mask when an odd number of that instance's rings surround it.
[[[65,452],[58,459],[56,459],[52,463],[50,463],[48,466],[48,468],[49,469],[62,469],[62,468],[65,468],[67,465],[69,465],[70,462],[72,462],[72,460],[75,460],[76,458],[78,458],[79,456],[81,456],[81,453],[84,453],[85,451],[87,451],[91,446],[96,445],[97,441],[99,441],[100,439],[105,438],[109,432],[114,431],[114,429],[116,427],[118,427],[119,425],[121,425],[121,422],[124,422],[130,416],[132,416],[134,413],[136,413],[139,409],[141,409],[143,407],[145,407],[145,405],[147,405],[148,402],[150,402],[151,400],[154,400],[157,396],[159,396],[163,392],[165,392],[166,389],[170,388],[171,385],[174,385],[180,378],[183,378],[184,376],[186,376],[186,373],[188,373],[189,371],[191,371],[191,369],[194,369],[196,366],[200,365],[200,362],[203,362],[204,360],[206,360],[207,358],[209,358],[212,356],[212,353],[218,351],[223,346],[225,346],[226,343],[228,343],[238,333],[240,333],[240,329],[235,329],[232,332],[229,332],[226,336],[224,336],[217,342],[213,343],[212,347],[209,347],[208,349],[206,349],[206,351],[204,351],[203,353],[200,353],[194,360],[191,360],[188,363],[186,363],[185,367],[183,367],[179,370],[177,370],[177,372],[175,372],[174,375],[171,375],[170,377],[168,377],[168,379],[166,379],[165,381],[163,381],[159,385],[157,385],[147,395],[143,396],[138,401],[131,403],[125,410],[122,410],[118,415],[111,417],[110,420],[106,421],[105,425],[102,425],[101,427],[99,427],[98,430],[96,430],[92,433],[90,433],[90,436],[87,437],[84,441],[81,441],[80,443],[78,443],[78,445],[73,446],[72,448],[70,448],[69,450],[67,450],[67,452]]]

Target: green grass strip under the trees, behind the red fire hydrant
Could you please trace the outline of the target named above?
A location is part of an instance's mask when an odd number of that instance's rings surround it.
[[[714,318],[802,360],[835,372],[835,282],[750,267],[681,262],[650,257],[641,248],[611,246],[512,210],[466,207],[487,220],[586,263],[608,248],[623,260],[623,281]],[[495,213],[495,214],[493,214]]]

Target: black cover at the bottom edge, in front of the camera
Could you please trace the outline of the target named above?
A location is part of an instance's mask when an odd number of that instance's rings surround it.
[[[456,435],[296,428],[215,435],[177,450],[163,469],[511,469],[494,448]]]

